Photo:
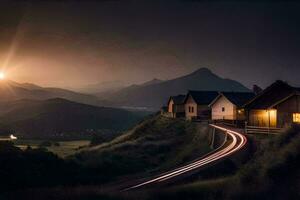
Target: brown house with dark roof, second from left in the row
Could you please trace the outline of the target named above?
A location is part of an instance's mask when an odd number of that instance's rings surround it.
[[[191,119],[210,119],[208,105],[219,95],[216,91],[189,91],[184,100],[185,116]]]

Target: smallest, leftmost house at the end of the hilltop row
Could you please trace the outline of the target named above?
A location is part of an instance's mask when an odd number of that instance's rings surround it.
[[[171,96],[168,101],[168,114],[172,118],[184,117],[184,99],[185,95]]]

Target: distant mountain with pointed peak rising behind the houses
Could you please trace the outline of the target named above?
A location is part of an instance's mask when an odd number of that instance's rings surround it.
[[[169,96],[185,94],[188,90],[249,91],[237,81],[223,79],[209,69],[201,68],[176,79],[156,81],[150,85],[133,85],[112,94],[98,94],[98,97],[120,106],[158,109]]]

